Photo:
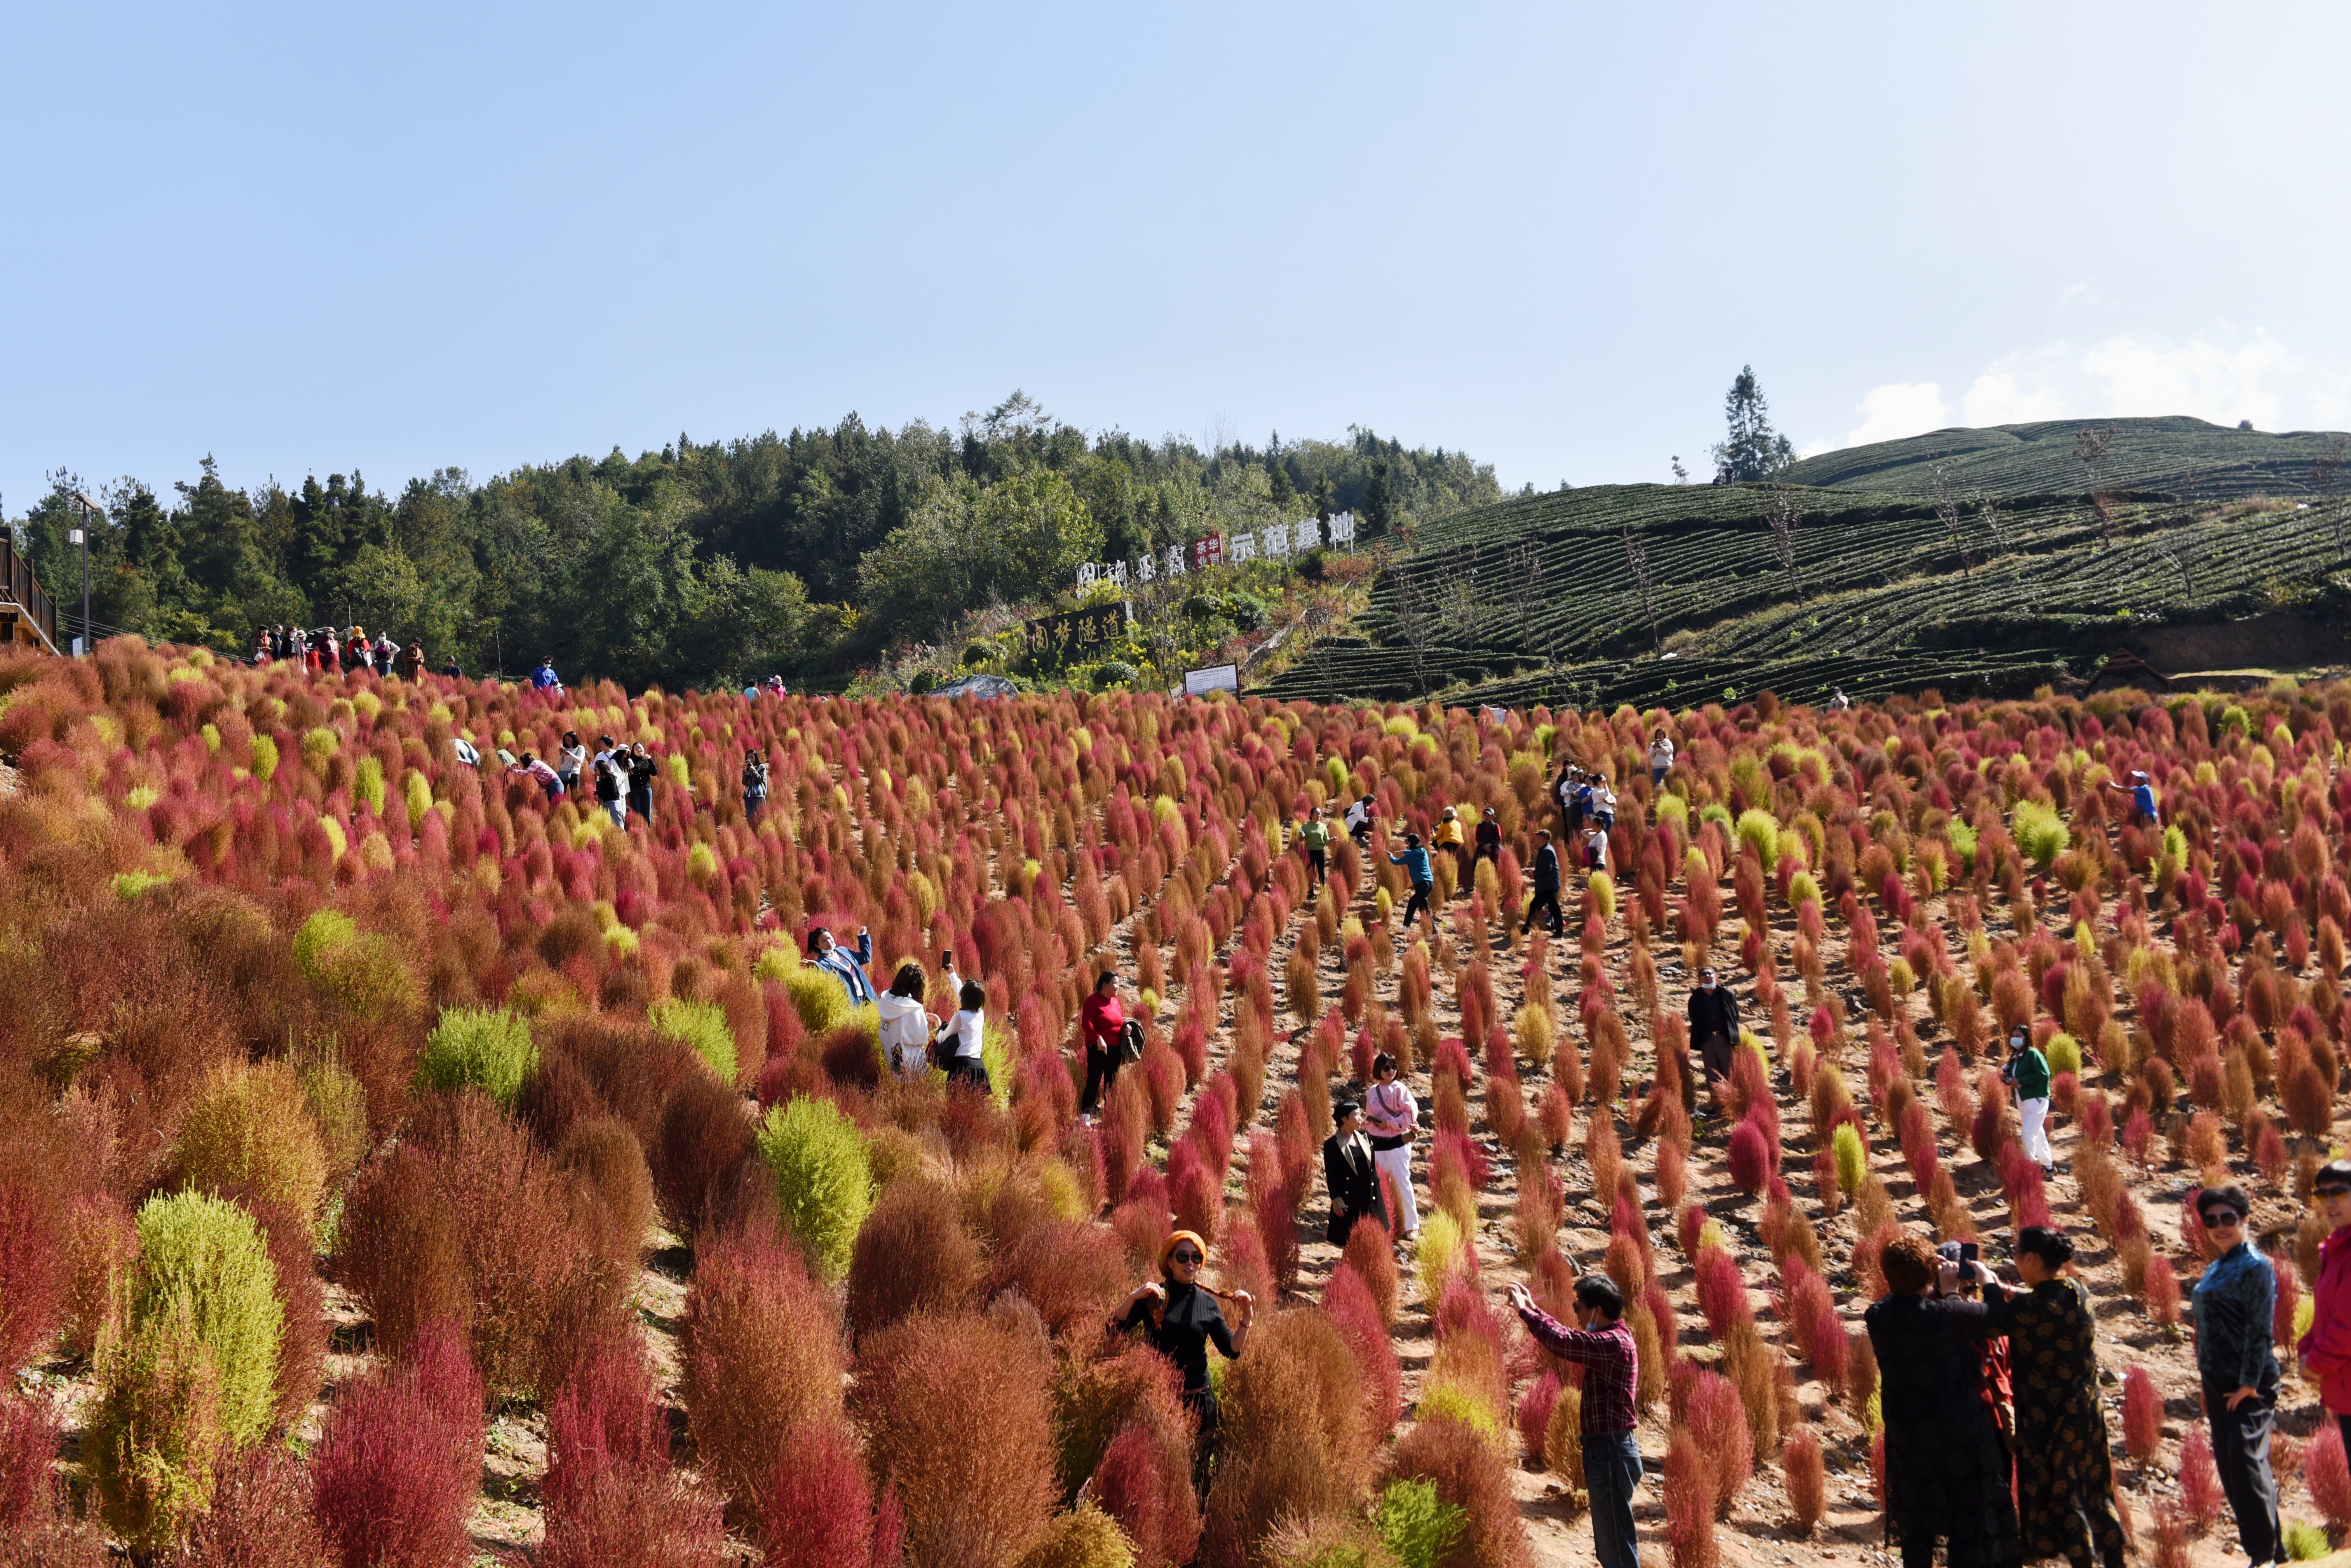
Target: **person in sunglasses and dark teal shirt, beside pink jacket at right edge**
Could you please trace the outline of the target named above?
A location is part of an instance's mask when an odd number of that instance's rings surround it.
[[[2269,1420],[2278,1406],[2278,1356],[2269,1324],[2278,1305],[2278,1274],[2252,1244],[2245,1220],[2252,1199],[2243,1187],[2205,1187],[2196,1218],[2219,1253],[2196,1281],[2196,1373],[2203,1378],[2212,1460],[2236,1514],[2236,1540],[2255,1566],[2285,1552],[2278,1535],[2278,1481],[2269,1474]]]

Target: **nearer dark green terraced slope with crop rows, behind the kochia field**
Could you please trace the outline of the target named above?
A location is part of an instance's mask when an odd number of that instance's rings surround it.
[[[1770,515],[1794,515],[1782,562]],[[1265,682],[1319,701],[1737,703],[2024,696],[2085,682],[2154,628],[2290,611],[2339,628],[2342,503],[1930,498],[1596,484],[1420,524],[1366,614]],[[1629,545],[1646,555],[1643,599]],[[2339,630],[2316,635],[2344,663]],[[2201,668],[2201,665],[2198,665]]]

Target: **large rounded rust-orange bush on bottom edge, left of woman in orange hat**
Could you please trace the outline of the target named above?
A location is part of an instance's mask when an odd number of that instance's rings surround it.
[[[907,1319],[858,1347],[853,1410],[917,1563],[1002,1568],[1044,1530],[1051,1385],[1051,1352],[1009,1314]]]

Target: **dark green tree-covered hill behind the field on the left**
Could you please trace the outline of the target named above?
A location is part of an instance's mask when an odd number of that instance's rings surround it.
[[[101,635],[245,654],[263,625],[360,623],[468,670],[552,656],[567,677],[670,686],[849,670],[945,639],[969,609],[1049,597],[1079,562],[1333,510],[1371,538],[1500,496],[1491,465],[1371,430],[1201,451],[1089,435],[1013,393],[955,430],[851,414],[397,491],[357,473],[235,489],[212,458],[172,487],[61,473],[9,522],[61,599],[80,585],[78,489],[106,505]]]

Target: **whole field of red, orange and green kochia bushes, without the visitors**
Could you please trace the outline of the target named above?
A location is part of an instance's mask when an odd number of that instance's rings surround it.
[[[1688,534],[1735,602],[1740,515]],[[564,729],[647,743],[649,823],[456,750]],[[2292,682],[1495,717],[0,658],[0,1561],[1580,1563],[1573,1380],[1500,1291],[1563,1316],[1594,1267],[1634,1302],[1643,1559],[1881,1561],[1876,1258],[2048,1218],[2139,1554],[2241,1561],[2182,1215],[2257,1194],[2290,1340],[2344,1110],[2344,736],[2351,686]],[[1615,780],[1620,872],[1528,940],[1563,759]],[[2121,818],[2130,769],[2165,827]],[[1434,929],[1345,839],[1310,891],[1291,825],[1366,792],[1498,813]],[[933,1006],[952,952],[992,1091],[884,1074],[816,926]],[[1749,1030],[1716,1119],[1681,1093],[1700,959]],[[1084,1119],[1098,969],[1145,1053]],[[2048,1180],[2015,1025],[2059,1070]],[[1422,1107],[1401,1262],[1324,1241],[1317,1145],[1375,1048]],[[1204,1502],[1168,1363],[1103,1328],[1171,1227],[1260,1302],[1211,1356]],[[2278,1432],[2320,1552],[2351,1467],[2292,1371]]]

